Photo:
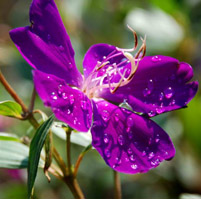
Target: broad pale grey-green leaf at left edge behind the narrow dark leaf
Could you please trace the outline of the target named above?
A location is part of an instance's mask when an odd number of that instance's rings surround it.
[[[27,168],[28,154],[29,147],[24,144],[15,141],[0,140],[0,168]]]

